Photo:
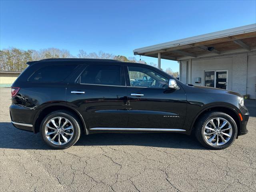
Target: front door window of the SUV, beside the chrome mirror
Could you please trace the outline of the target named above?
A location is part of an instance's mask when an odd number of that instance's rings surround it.
[[[169,79],[159,73],[143,67],[128,67],[132,87],[168,88]]]

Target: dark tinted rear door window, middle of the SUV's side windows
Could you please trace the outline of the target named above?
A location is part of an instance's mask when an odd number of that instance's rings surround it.
[[[80,76],[82,84],[122,85],[120,66],[89,65]]]

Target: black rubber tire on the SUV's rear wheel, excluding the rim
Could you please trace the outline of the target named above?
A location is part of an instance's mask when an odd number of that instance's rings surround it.
[[[54,143],[50,142],[48,140],[48,138],[46,137],[46,134],[45,134],[45,131],[44,131],[47,122],[50,121],[52,118],[59,117],[59,116],[68,119],[72,123],[72,126],[73,126],[73,136],[72,136],[72,138],[66,144],[62,144],[62,145],[58,145],[58,144],[54,144]],[[51,148],[66,149],[66,148],[74,145],[78,141],[78,139],[80,138],[80,135],[81,135],[80,127],[82,127],[82,126],[80,125],[79,122],[80,121],[78,120],[76,115],[73,114],[72,112],[69,112],[69,111],[66,111],[66,110],[57,110],[57,111],[51,112],[41,122],[40,133],[41,133],[42,139]]]

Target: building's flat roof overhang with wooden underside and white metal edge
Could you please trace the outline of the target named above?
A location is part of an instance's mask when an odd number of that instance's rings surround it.
[[[186,60],[256,50],[256,24],[135,49],[135,55]]]

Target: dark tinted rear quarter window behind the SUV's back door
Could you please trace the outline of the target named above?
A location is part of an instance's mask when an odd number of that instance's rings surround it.
[[[74,70],[76,65],[45,66],[28,78],[30,82],[61,82]]]

